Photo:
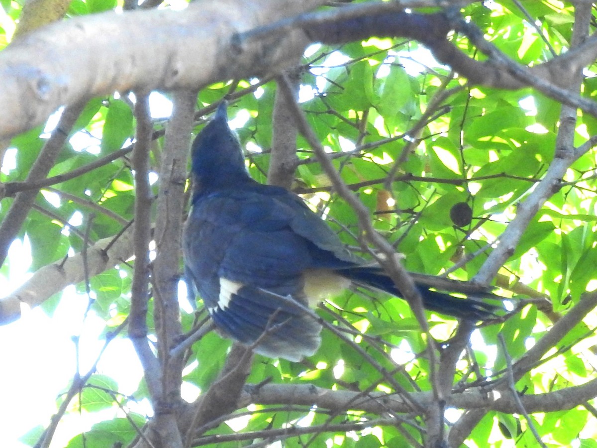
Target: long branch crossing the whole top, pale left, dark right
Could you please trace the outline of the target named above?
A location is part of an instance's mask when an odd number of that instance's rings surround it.
[[[344,43],[370,36],[417,39],[472,84],[510,89],[531,85],[597,116],[597,103],[562,89],[569,84],[570,67],[597,56],[597,36],[576,51],[527,69],[504,61],[481,39],[477,44],[491,60],[470,59],[446,35],[453,26],[470,35],[475,29],[460,20],[451,23],[444,14],[405,13],[403,2],[367,2],[299,15],[325,3],[221,0],[191,4],[182,12],[93,14],[48,25],[0,54],[0,137],[21,133],[60,105],[88,97],[137,88],[196,90],[222,79],[278,73],[312,42]],[[200,56],[189,58],[198,48]]]

